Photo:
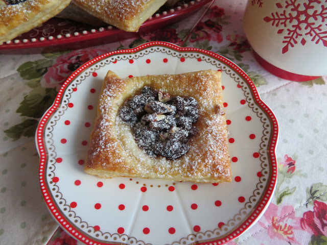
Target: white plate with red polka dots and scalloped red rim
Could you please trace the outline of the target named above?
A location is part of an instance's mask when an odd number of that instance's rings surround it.
[[[222,70],[232,181],[195,184],[85,174],[89,135],[109,69],[123,78]],[[276,117],[237,65],[198,48],[150,42],[97,57],[63,84],[36,132],[41,190],[60,226],[86,244],[223,244],[267,208],[277,180],[277,138]]]

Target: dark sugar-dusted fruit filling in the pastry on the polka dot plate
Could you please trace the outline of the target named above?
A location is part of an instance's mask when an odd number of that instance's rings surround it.
[[[139,148],[151,157],[181,157],[189,151],[190,137],[198,132],[193,124],[199,118],[199,109],[193,97],[171,98],[150,87],[127,100],[119,116],[131,127]]]

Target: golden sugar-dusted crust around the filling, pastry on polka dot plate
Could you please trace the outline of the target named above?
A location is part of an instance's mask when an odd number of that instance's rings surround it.
[[[179,75],[121,79],[108,71],[98,105],[98,117],[91,133],[84,170],[101,178],[118,176],[174,181],[230,182],[227,126],[222,113],[220,71],[204,70]],[[192,96],[198,101],[199,132],[190,138],[190,150],[176,160],[150,157],[140,149],[130,127],[118,116],[126,99],[144,86],[172,97]],[[221,109],[220,109],[221,108]]]

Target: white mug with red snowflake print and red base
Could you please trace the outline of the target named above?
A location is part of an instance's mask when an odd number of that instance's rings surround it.
[[[245,35],[255,59],[293,81],[327,75],[327,2],[248,0]]]

